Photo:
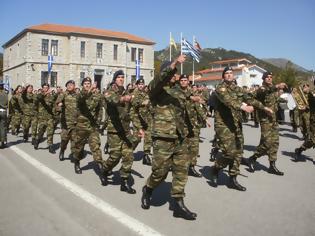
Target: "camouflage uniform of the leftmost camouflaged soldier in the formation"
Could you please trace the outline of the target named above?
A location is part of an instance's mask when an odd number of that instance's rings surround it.
[[[11,117],[11,130],[12,134],[17,134],[20,129],[23,117],[21,108],[21,94],[15,94],[10,99],[12,117]]]

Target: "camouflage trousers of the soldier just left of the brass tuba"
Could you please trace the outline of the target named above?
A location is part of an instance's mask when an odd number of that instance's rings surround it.
[[[277,122],[261,122],[260,126],[260,143],[253,157],[267,155],[269,161],[276,161],[279,148],[279,125]]]

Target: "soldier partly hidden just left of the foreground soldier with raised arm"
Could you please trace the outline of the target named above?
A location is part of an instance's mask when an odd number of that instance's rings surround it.
[[[144,131],[143,152],[144,156],[142,163],[144,165],[151,165],[150,153],[152,147],[151,126],[152,126],[152,106],[148,96],[145,92],[144,79],[138,79],[136,82],[137,89],[133,93],[132,106],[134,109],[134,116],[132,122],[139,130]]]

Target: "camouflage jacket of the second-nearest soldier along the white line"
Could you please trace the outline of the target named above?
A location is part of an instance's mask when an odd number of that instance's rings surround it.
[[[120,102],[124,88],[112,86],[105,93],[106,114],[108,115],[107,132],[126,135],[130,133],[129,103]]]

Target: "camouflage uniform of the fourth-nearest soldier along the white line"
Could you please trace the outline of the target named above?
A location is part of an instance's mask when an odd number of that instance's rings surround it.
[[[62,103],[61,107],[61,143],[60,152],[64,152],[67,149],[69,140],[71,140],[71,153],[74,153],[75,149],[75,127],[77,123],[78,116],[78,106],[77,106],[77,94],[75,91],[69,92],[65,91],[58,95],[56,100],[56,105]]]

